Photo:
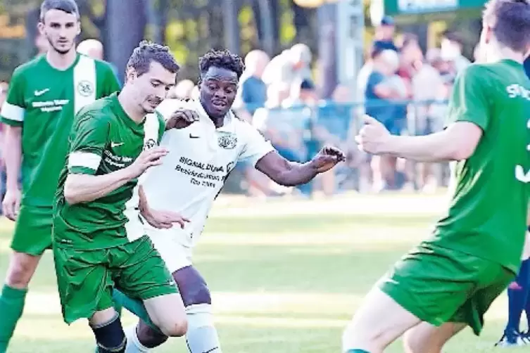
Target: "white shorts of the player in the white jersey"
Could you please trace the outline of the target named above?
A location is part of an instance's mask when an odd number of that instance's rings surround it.
[[[150,228],[146,231],[171,273],[191,265],[193,248],[182,244],[174,230]]]

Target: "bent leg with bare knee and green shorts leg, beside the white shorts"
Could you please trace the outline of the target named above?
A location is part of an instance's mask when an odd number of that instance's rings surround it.
[[[120,270],[116,285],[127,297],[141,299],[153,324],[170,337],[186,333],[187,319],[169,270],[149,238],[113,249]]]

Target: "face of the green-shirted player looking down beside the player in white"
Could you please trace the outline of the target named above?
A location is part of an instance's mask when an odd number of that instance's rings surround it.
[[[165,70],[156,61],[151,62],[149,71],[138,76],[134,69],[127,72],[127,84],[134,91],[134,99],[144,110],[144,113],[153,113],[168,95],[168,91],[175,86],[177,74]]]

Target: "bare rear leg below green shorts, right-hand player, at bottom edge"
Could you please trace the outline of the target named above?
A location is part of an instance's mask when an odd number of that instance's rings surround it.
[[[436,327],[422,322],[403,336],[405,353],[441,353],[443,345],[467,326],[467,323],[444,323]]]

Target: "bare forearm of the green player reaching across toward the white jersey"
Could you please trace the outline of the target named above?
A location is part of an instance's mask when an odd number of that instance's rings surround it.
[[[132,165],[104,175],[68,174],[65,181],[65,200],[70,205],[97,200],[115,191],[128,181],[139,177],[149,167],[160,165],[168,154],[165,148],[144,150]]]

